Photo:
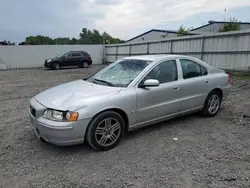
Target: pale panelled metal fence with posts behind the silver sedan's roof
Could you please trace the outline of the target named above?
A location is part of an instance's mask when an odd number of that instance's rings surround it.
[[[107,45],[105,51],[107,62],[132,55],[183,54],[202,59],[217,68],[248,70],[250,69],[250,30]]]

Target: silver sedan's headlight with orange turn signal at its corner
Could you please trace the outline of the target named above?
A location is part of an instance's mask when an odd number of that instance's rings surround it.
[[[76,121],[78,116],[79,114],[77,112],[65,112],[52,109],[47,109],[43,113],[44,118],[54,121]]]

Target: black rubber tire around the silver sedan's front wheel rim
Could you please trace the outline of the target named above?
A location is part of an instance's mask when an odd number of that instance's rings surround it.
[[[104,127],[102,127],[102,125],[103,125],[103,122],[104,122],[104,124],[106,124],[106,121],[108,119],[111,119],[110,124],[112,124],[112,122],[115,123],[115,121],[117,122],[114,124],[114,125],[116,125],[116,128],[119,125],[119,130],[117,129],[116,132],[114,131],[113,133],[111,133],[111,134],[117,134],[116,140],[114,140],[113,143],[112,143],[111,136],[110,136],[110,138],[106,138],[109,135],[106,135],[106,133],[104,133],[105,134],[104,135],[103,133],[99,132],[100,128],[105,129],[106,125]],[[97,131],[97,128],[99,131]],[[99,134],[97,134],[96,131],[99,132]],[[102,131],[105,132],[105,130],[102,130]],[[114,111],[105,111],[105,112],[102,112],[102,113],[98,114],[97,116],[95,116],[93,118],[93,120],[90,122],[90,124],[87,128],[87,131],[86,131],[86,140],[87,140],[88,144],[96,150],[109,150],[109,149],[114,148],[118,144],[122,135],[124,134],[124,131],[125,131],[125,122],[124,122],[123,118],[121,117],[121,115],[114,112]],[[111,130],[111,132],[112,132],[112,130]],[[103,137],[106,138],[106,142],[108,140],[111,142],[110,143],[107,142],[106,145],[101,145],[100,140],[103,140],[102,139]],[[100,140],[98,141],[99,138],[100,138]]]

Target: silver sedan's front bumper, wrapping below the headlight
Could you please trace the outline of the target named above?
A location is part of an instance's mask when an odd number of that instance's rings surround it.
[[[57,122],[45,119],[42,114],[46,107],[31,99],[30,105],[36,114],[30,112],[30,121],[38,138],[60,146],[69,146],[84,142],[85,132],[91,120],[84,119],[75,122]]]

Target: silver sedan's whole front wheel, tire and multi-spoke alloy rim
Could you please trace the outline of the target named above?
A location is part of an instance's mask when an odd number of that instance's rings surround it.
[[[86,140],[94,149],[112,149],[119,142],[124,130],[123,118],[116,112],[105,111],[91,121],[86,132]]]

